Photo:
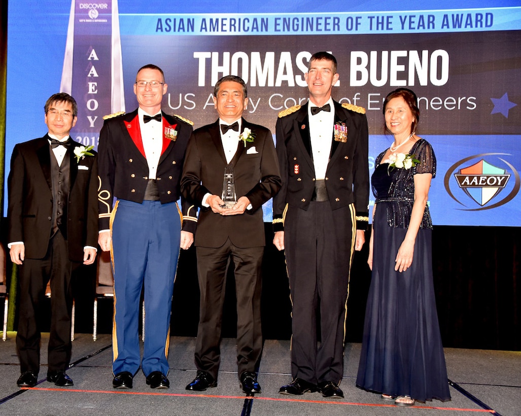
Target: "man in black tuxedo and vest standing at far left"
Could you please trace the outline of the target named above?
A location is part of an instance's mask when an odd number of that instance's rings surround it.
[[[8,177],[9,254],[20,265],[16,346],[20,387],[34,387],[40,370],[42,300],[51,280],[47,381],[72,386],[72,284],[77,268],[92,264],[97,242],[97,159],[72,141],[78,107],[69,94],[45,103],[48,133],[19,143]]]

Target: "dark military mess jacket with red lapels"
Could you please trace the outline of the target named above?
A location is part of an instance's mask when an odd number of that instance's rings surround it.
[[[184,153],[192,126],[178,116],[163,114],[163,152],[157,166],[156,180],[162,204],[181,196],[179,181]],[[175,138],[172,135],[175,134]],[[167,136],[169,135],[170,138]],[[142,203],[148,181],[138,109],[105,120],[98,146],[100,157],[100,229],[109,229],[114,197]],[[195,232],[196,209],[181,200],[183,230]]]

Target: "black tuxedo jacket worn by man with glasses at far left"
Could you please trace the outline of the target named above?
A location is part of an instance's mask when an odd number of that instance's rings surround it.
[[[77,162],[73,153],[77,146],[80,144],[73,142],[65,155],[70,157],[67,241],[69,259],[82,262],[83,248],[97,246],[97,156],[84,156]],[[23,241],[27,258],[42,259],[47,253],[53,214],[51,147],[47,135],[15,146],[8,198],[8,241]]]

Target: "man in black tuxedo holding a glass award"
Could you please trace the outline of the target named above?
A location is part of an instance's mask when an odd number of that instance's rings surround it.
[[[194,131],[184,163],[181,191],[201,207],[195,234],[201,290],[197,376],[187,390],[217,385],[222,304],[227,265],[231,264],[237,295],[239,380],[244,393],[261,393],[255,371],[262,351],[262,204],[279,190],[280,176],[271,132],[242,118],[247,102],[241,78],[230,75],[217,81],[214,105],[219,119]],[[221,199],[227,166],[233,168],[239,197],[231,207]]]

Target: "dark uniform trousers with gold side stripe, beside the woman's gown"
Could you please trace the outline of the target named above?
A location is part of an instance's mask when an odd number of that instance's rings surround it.
[[[342,380],[354,215],[353,204],[334,211],[329,201],[312,202],[307,211],[288,206],[284,247],[292,301],[293,378],[314,384]]]

